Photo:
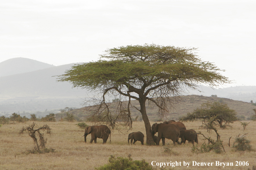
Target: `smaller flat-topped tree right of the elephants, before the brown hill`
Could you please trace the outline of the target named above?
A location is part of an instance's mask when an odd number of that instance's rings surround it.
[[[230,126],[237,120],[236,112],[233,109],[229,109],[227,104],[219,102],[206,102],[197,108],[192,113],[187,113],[186,116],[180,118],[180,121],[196,121],[202,120],[202,127],[206,127],[207,131],[214,130],[217,134],[217,140],[219,140],[219,134],[216,127]]]

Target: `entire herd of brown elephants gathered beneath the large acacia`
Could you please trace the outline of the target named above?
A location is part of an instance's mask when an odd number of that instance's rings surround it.
[[[151,127],[152,137],[156,145],[159,145],[160,140],[162,140],[162,145],[165,145],[165,138],[172,140],[173,144],[185,143],[186,140],[194,145],[194,142],[198,144],[197,132],[193,129],[187,130],[185,125],[180,121],[164,121],[163,123],[155,123]],[[158,136],[154,136],[158,132]],[[88,126],[85,128],[84,142],[86,142],[86,137],[91,134],[92,143],[97,143],[97,138],[103,139],[103,143],[106,143],[110,135],[111,142],[111,131],[106,125],[100,126]],[[179,138],[181,138],[181,143],[179,143]],[[144,134],[141,132],[132,132],[128,135],[128,143],[131,140],[131,144],[140,141],[141,145],[144,145]]]

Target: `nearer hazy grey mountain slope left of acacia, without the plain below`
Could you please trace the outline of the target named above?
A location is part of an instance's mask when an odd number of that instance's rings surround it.
[[[50,67],[43,70],[0,77],[0,99],[23,98],[74,98],[85,92],[72,88],[69,82],[57,82],[57,76],[64,74],[74,64]]]

